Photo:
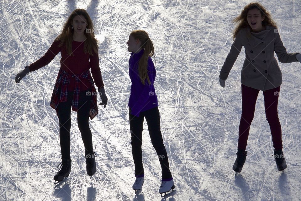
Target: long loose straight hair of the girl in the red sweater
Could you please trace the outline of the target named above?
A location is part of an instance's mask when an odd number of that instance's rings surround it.
[[[84,31],[84,35],[87,37],[84,44],[84,52],[85,54],[89,53],[89,55],[93,56],[93,52],[95,54],[98,54],[98,45],[97,45],[97,39],[94,35],[94,26],[92,23],[92,20],[87,13],[85,9],[77,8],[75,9],[70,16],[68,17],[67,21],[64,24],[62,33],[58,35],[55,39],[55,41],[61,40],[59,47],[66,46],[67,53],[71,56],[72,53],[72,41],[73,41],[73,33],[74,29],[71,29],[72,25],[71,22],[73,21],[73,18],[77,15],[82,15],[87,20],[87,29]],[[88,30],[90,29],[90,31]],[[88,30],[88,31],[87,31]]]

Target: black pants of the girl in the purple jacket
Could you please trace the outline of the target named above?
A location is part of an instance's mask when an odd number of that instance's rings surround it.
[[[150,133],[151,143],[154,146],[160,161],[162,168],[162,179],[169,179],[172,177],[172,174],[169,170],[168,157],[160,130],[160,113],[158,107],[140,112],[139,117],[132,115],[131,109],[129,109],[129,126],[132,138],[131,144],[135,164],[135,177],[144,175],[141,149],[144,117],[146,119],[148,131]]]

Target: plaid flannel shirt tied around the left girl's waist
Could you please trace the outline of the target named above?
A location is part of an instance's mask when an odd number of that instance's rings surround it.
[[[75,84],[74,84],[74,89],[73,89],[73,100],[72,100],[72,110],[73,111],[78,111],[80,84],[83,84],[81,80],[82,79],[89,80],[89,83],[91,84],[90,95],[92,95],[89,117],[90,117],[90,119],[93,119],[98,114],[97,96],[96,96],[97,92],[94,87],[94,82],[91,77],[91,74],[88,70],[83,72],[80,75],[75,75],[75,74],[71,75],[70,73],[67,73],[66,71],[60,69],[58,77],[55,82],[53,92],[52,92],[50,106],[56,110],[56,108],[60,102],[67,101],[68,91],[72,90],[72,89],[70,89],[70,90],[68,89],[71,78],[75,79]],[[61,94],[59,94],[59,89],[61,89]]]

